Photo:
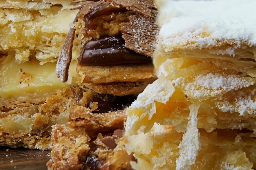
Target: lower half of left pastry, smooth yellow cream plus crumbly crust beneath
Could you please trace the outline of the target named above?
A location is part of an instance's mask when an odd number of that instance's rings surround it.
[[[56,62],[40,65],[33,58],[18,64],[8,55],[0,66],[0,145],[49,149],[51,126],[66,124],[76,103],[72,84],[56,77]],[[71,68],[74,79],[76,62]]]

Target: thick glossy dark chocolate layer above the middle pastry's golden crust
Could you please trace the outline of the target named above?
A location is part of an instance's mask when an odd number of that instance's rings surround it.
[[[121,36],[88,41],[78,59],[81,66],[152,64],[152,58],[126,48]]]

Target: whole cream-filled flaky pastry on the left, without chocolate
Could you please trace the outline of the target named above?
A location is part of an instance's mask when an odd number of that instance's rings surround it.
[[[66,83],[55,66],[78,3],[0,2],[0,146],[49,149],[51,126],[67,123],[78,48]]]

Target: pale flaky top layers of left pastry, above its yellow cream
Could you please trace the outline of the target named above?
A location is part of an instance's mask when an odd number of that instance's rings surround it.
[[[63,1],[63,6],[56,3],[0,2],[0,53],[15,53],[18,63],[29,61],[31,55],[40,64],[56,61],[70,22],[77,13],[77,10],[69,10],[70,0]]]

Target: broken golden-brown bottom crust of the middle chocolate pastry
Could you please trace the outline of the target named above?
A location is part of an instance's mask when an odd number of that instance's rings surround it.
[[[93,114],[88,108],[74,106],[67,125],[53,126],[48,169],[129,168],[133,157],[124,150],[121,129],[125,120],[124,110]]]

